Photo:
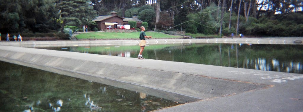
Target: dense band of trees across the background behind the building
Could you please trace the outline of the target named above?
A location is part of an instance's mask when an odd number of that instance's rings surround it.
[[[155,28],[158,0],[1,0],[0,32],[59,31],[117,12]],[[204,34],[303,36],[303,0],[161,0],[157,29]],[[240,6],[240,7],[239,7]],[[230,13],[231,12],[231,13]],[[239,20],[237,22],[237,14]],[[222,15],[221,15],[222,14]],[[237,25],[238,24],[238,25]],[[229,27],[230,26],[230,27]],[[238,26],[238,29],[236,28]]]

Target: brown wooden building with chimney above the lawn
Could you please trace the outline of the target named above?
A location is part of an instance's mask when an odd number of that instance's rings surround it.
[[[128,25],[128,21],[136,21],[137,28],[141,27],[142,21],[137,16],[133,18],[122,18],[117,15],[117,12],[111,12],[111,15],[98,16],[93,21],[98,24],[98,30],[105,31],[107,28],[118,29],[118,25]]]

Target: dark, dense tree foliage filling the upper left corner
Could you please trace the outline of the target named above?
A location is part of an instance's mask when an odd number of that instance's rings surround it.
[[[0,30],[3,32],[48,32],[57,28],[53,0],[0,1]]]

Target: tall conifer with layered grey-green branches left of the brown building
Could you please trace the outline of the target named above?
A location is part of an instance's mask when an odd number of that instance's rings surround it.
[[[64,0],[56,5],[61,14],[61,32],[69,21],[76,21],[81,26],[89,24],[97,16],[97,12],[93,10],[89,2],[90,0]]]

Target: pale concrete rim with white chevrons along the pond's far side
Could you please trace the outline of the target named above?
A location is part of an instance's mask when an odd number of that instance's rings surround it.
[[[300,41],[300,42],[296,42]],[[150,39],[147,44],[182,43],[225,43],[225,44],[303,44],[303,38],[211,38],[211,39]],[[98,41],[12,41],[0,42],[0,45],[18,47],[55,47],[73,45],[137,45],[138,40],[98,40]]]

